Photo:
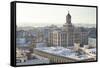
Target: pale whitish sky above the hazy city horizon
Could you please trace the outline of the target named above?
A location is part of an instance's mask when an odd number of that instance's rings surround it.
[[[17,3],[17,26],[63,25],[70,12],[72,23],[96,24],[96,8]]]

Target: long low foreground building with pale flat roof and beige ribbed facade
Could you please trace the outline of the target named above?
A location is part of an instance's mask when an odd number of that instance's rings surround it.
[[[84,51],[74,51],[72,49],[64,47],[35,48],[34,53],[39,56],[48,58],[50,63],[65,63],[65,62],[95,60],[94,55],[90,53],[85,53]]]

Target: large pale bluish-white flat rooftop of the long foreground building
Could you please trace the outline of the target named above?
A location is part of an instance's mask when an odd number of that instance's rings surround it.
[[[42,47],[42,48],[35,48],[35,49],[42,52],[63,56],[67,58],[72,58],[76,60],[85,60],[85,59],[92,58],[92,56],[89,56],[88,54],[85,54],[82,51],[74,51],[64,47]]]

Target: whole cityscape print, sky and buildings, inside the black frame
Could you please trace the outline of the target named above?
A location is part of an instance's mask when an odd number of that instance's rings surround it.
[[[16,65],[96,61],[95,9],[18,4]]]

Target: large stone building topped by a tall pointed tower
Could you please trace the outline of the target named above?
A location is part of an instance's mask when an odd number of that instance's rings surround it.
[[[74,27],[71,22],[71,15],[68,12],[66,23],[61,29],[55,29],[49,33],[48,44],[50,46],[73,47],[74,43],[81,46],[88,44],[88,32]]]

